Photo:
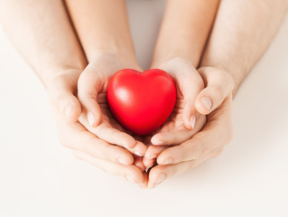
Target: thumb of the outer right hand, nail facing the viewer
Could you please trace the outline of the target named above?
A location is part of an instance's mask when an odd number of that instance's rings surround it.
[[[206,88],[197,96],[195,107],[200,114],[207,115],[227,98],[234,88],[234,82],[227,71],[203,67],[199,72],[206,81]]]

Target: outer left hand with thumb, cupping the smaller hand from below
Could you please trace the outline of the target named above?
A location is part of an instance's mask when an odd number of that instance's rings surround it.
[[[77,158],[109,174],[145,186],[147,176],[140,169],[138,158],[134,159],[134,156],[123,147],[113,146],[99,139],[76,121],[81,108],[73,93],[77,92],[79,73],[79,70],[65,71],[46,84],[60,143],[69,147]]]

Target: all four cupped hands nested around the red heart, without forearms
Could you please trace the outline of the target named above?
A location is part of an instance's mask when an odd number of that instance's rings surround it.
[[[60,142],[74,156],[153,188],[221,153],[232,137],[233,81],[227,72],[209,67],[196,71],[181,58],[153,67],[172,75],[177,102],[163,127],[138,137],[121,127],[107,107],[107,82],[125,68],[142,71],[134,62],[102,53],[83,72],[68,70],[48,82]],[[145,169],[151,166],[148,176]]]

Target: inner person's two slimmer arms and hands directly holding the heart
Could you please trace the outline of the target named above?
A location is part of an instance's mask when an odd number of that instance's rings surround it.
[[[108,1],[86,0],[83,4],[83,2],[70,0],[66,3],[79,34],[80,42],[88,56],[88,61],[90,61],[89,65],[93,64],[93,67],[87,67],[79,78],[79,101],[84,111],[83,118],[79,120],[98,137],[118,146],[135,149],[135,141],[131,137],[135,137],[135,135],[129,137],[128,134],[124,134],[122,127],[113,125],[112,122],[116,122],[111,121],[113,116],[107,114],[108,110],[101,109],[101,105],[107,107],[107,102],[103,103],[98,100],[100,94],[106,95],[107,81],[113,73],[121,70],[121,67],[122,69],[134,68],[142,71],[135,61],[135,52],[126,18],[125,1],[117,1],[113,6]],[[146,145],[152,145],[151,142],[155,144],[171,133],[178,137],[177,143],[180,144],[200,131],[205,124],[205,117],[197,114],[194,106],[196,96],[204,87],[200,74],[195,68],[199,64],[200,54],[209,36],[217,7],[218,1],[216,0],[205,3],[200,0],[181,1],[181,4],[176,1],[168,2],[162,31],[155,49],[153,68],[168,71],[176,81],[178,106],[173,111],[171,121],[167,121],[156,137],[153,137],[152,140],[153,135],[144,138]],[[205,14],[207,10],[209,15]],[[185,28],[186,26],[190,26],[190,28]],[[171,34],[176,27],[179,28],[179,31]],[[170,35],[170,37],[167,38],[166,35]],[[193,40],[188,41],[189,38]],[[186,43],[187,41],[188,43]],[[103,48],[103,44],[105,48]],[[166,44],[170,44],[170,46]],[[190,52],[192,50],[195,52]],[[98,61],[103,59],[101,53],[108,56],[107,64]],[[192,54],[195,55],[191,57]],[[116,56],[120,57],[121,62],[124,62],[118,64],[120,67],[114,67],[117,62]],[[190,88],[190,83],[194,83],[193,89]],[[196,116],[200,121],[195,126]],[[139,138],[139,140],[143,141],[143,138]],[[126,141],[125,145],[123,141]],[[137,143],[140,147],[136,148],[135,153],[143,153],[141,156],[144,156],[146,153],[144,144],[139,141]],[[151,147],[153,148],[153,146]],[[143,165],[139,165],[150,167],[154,161],[155,157],[144,158]]]

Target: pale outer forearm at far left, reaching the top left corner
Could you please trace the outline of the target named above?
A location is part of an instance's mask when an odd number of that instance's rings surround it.
[[[61,1],[2,1],[0,19],[16,48],[46,84],[85,58]]]

